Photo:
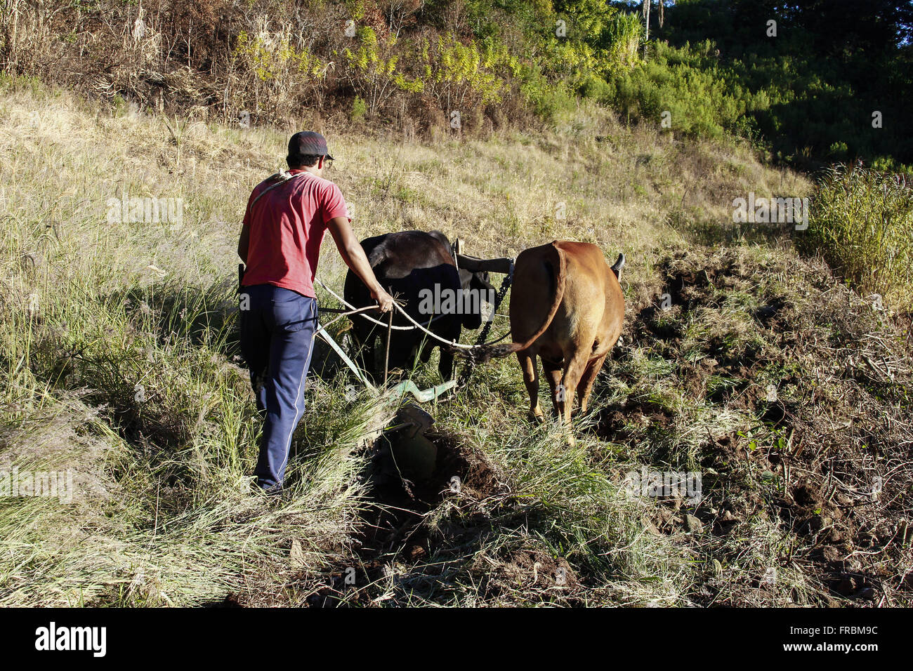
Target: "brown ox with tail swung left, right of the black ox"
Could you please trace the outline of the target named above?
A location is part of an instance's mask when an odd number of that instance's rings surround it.
[[[517,352],[536,421],[544,419],[537,356],[554,413],[570,424],[575,392],[580,412],[586,412],[596,373],[622,332],[624,295],[618,275],[623,266],[624,254],[609,267],[598,246],[561,240],[526,249],[517,258],[510,297],[514,342],[483,348],[476,356],[487,360]]]

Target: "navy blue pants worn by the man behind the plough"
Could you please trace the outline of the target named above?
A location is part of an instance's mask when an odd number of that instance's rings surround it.
[[[282,487],[291,436],[304,414],[304,379],[310,366],[317,299],[287,288],[242,287],[241,354],[263,417],[257,485]]]

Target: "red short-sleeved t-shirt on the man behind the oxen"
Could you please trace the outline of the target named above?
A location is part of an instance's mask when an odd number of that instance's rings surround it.
[[[251,206],[272,183],[258,183],[247,199],[244,225],[250,227],[250,242],[242,284],[272,284],[315,298],[320,243],[332,218],[349,216],[345,199],[336,184],[304,173],[270,189]]]

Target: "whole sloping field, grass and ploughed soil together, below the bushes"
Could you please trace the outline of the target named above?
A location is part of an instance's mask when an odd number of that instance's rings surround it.
[[[34,82],[0,93],[0,129],[0,465],[76,483],[71,504],[0,499],[0,603],[911,603],[909,332],[795,232],[732,224],[733,198],[807,194],[795,173],[591,108],[486,142],[323,128],[359,235],[624,250],[624,342],[572,448],[526,422],[514,361],[477,369],[427,406],[441,458],[412,489],[372,449],[394,400],[315,377],[268,500],[247,478],[234,249],[285,134],[112,117]],[[133,197],[181,215],[124,221],[110,199]],[[632,495],[642,468],[697,471],[702,498]]]

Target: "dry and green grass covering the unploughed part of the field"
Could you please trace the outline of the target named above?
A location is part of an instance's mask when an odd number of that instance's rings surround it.
[[[345,375],[312,377],[288,496],[269,500],[250,488],[259,422],[236,360],[234,247],[248,189],[275,172],[287,138],[188,123],[178,156],[161,118],[112,117],[24,82],[0,92],[0,117],[9,129],[0,137],[0,467],[69,467],[78,490],[70,505],[0,500],[0,603],[187,605],[227,592],[304,603],[293,589],[302,574],[319,582],[313,576],[363,560],[364,446],[393,408],[370,393],[352,400]],[[657,294],[656,256],[686,244],[666,224],[670,210],[699,208],[724,222],[732,194],[771,193],[782,180],[794,193],[806,186],[741,147],[676,145],[588,107],[569,112],[555,133],[488,142],[330,135],[340,160],[327,176],[356,204],[360,236],[441,228],[481,257],[515,256],[555,237],[592,241],[613,258],[624,250],[631,319]],[[97,142],[102,136],[107,142]],[[708,169],[728,163],[740,170]],[[182,197],[184,221],[111,221],[106,202],[124,192]],[[559,203],[566,218],[555,214]],[[320,277],[338,287],[343,271],[328,245]],[[721,299],[712,314],[680,316],[683,347],[696,362],[717,341],[747,348],[756,307]],[[437,534],[434,548],[425,564],[395,550],[383,556],[394,578],[381,603],[571,603],[571,591],[523,586],[534,566],[517,557],[530,548],[569,562],[579,577],[573,603],[695,602],[699,566],[717,555],[675,520],[657,531],[651,519],[668,502],[624,498],[618,483],[642,465],[702,467],[714,441],[757,418],[695,397],[656,341],[625,352],[600,376],[572,449],[555,426],[525,422],[513,361],[478,367],[471,388],[426,406],[439,428],[498,467],[505,492],[430,511],[423,524]],[[433,360],[415,382],[439,382],[435,370]],[[624,444],[604,441],[593,425],[625,403],[656,416],[632,419]],[[776,561],[784,536],[767,519],[746,520],[744,533],[757,550],[750,565],[719,541],[719,556],[732,556],[733,584]]]

